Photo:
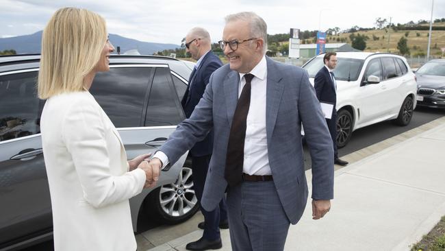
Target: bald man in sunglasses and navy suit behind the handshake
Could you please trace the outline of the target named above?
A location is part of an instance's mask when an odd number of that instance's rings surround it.
[[[186,51],[190,53],[194,60],[197,60],[188,81],[187,91],[181,101],[186,117],[189,118],[194,107],[203,97],[210,75],[221,67],[223,63],[212,52],[209,32],[201,27],[194,27],[188,32],[186,36]],[[201,201],[203,195],[205,177],[207,176],[207,169],[212,156],[212,147],[213,132],[210,131],[205,139],[197,142],[189,152],[189,156],[192,158],[194,191],[199,201]],[[188,243],[186,249],[207,250],[208,248],[221,248],[219,226],[221,228],[229,227],[225,198],[223,197],[219,206],[216,206],[212,211],[205,211],[201,206],[201,212],[204,215],[204,222],[199,224],[199,228],[204,230],[203,237],[198,241]]]

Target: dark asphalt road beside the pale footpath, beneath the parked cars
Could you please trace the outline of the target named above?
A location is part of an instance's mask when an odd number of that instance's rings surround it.
[[[414,110],[414,115],[411,119],[411,123],[409,123],[409,125],[405,127],[394,125],[394,123],[392,123],[391,121],[384,121],[381,123],[370,125],[366,128],[360,128],[353,132],[348,145],[338,150],[338,155],[341,157],[347,154],[351,154],[352,152],[361,150],[364,147],[368,147],[370,145],[373,145],[374,143],[389,139],[392,136],[396,136],[397,134],[401,134],[443,116],[445,116],[445,110],[418,107],[416,108],[416,110]],[[309,153],[307,151],[305,152],[305,156],[309,158]],[[305,166],[306,169],[310,168],[310,160],[305,161]],[[159,225],[152,223],[147,224],[147,226],[143,226],[142,228],[144,228],[144,230],[148,230],[157,226]],[[47,241],[36,246],[32,246],[30,248],[25,248],[23,251],[48,250],[54,250],[52,241]]]

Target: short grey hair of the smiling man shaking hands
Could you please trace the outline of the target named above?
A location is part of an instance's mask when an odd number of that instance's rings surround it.
[[[251,29],[251,36],[255,38],[263,38],[263,53],[267,50],[267,24],[261,16],[255,14],[255,12],[238,12],[230,14],[225,17],[226,24],[233,21],[246,21],[249,23]]]

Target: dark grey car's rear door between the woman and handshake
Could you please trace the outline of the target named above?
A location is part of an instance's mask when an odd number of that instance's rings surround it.
[[[128,159],[154,154],[185,119],[168,64],[112,64],[109,72],[96,75],[90,91],[116,126]],[[163,172],[157,184],[174,182],[185,158]],[[140,205],[153,189],[130,200],[135,230]]]

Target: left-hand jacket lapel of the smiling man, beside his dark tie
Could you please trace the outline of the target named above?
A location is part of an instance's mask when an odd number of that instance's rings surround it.
[[[233,114],[235,113],[236,104],[238,103],[239,84],[240,74],[236,71],[230,71],[223,82],[229,125],[232,124]]]

